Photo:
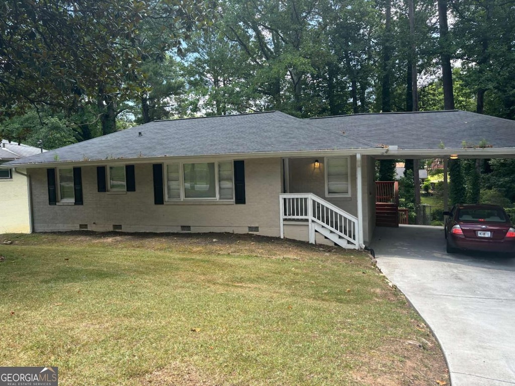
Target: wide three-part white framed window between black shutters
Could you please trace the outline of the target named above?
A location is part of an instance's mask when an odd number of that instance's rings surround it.
[[[232,161],[165,165],[166,201],[234,200]]]

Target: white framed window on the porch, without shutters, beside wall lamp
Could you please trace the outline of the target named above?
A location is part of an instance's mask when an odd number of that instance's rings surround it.
[[[327,157],[324,160],[325,197],[350,197],[349,157]]]

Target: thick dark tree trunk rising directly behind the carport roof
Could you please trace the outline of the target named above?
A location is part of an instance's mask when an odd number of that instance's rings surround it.
[[[438,22],[440,30],[440,59],[442,63],[443,108],[454,110],[454,92],[452,84],[452,66],[447,24],[447,0],[438,0]]]

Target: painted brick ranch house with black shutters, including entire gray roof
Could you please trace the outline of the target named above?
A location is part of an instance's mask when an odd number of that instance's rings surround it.
[[[364,248],[376,159],[508,156],[514,134],[515,121],[462,111],[265,112],[150,122],[9,166],[27,168],[36,232],[256,233]],[[483,138],[493,147],[461,148]]]

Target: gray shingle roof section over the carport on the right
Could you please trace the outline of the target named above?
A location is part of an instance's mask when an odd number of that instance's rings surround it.
[[[515,148],[515,121],[459,110],[372,113],[312,118],[317,126],[374,145],[399,149],[460,149],[486,139],[494,148]]]

